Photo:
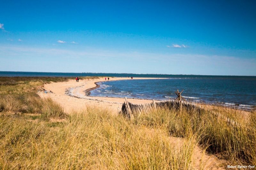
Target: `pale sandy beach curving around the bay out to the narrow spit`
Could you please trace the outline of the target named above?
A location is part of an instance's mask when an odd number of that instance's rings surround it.
[[[133,78],[133,79],[159,79],[159,78]],[[80,79],[79,82],[76,80],[69,80],[67,82],[57,82],[51,84],[45,84],[44,89],[52,91],[53,93],[38,92],[41,98],[50,97],[54,101],[61,104],[64,107],[64,111],[71,113],[73,110],[82,110],[86,107],[108,107],[112,109],[113,113],[118,113],[121,110],[124,98],[113,98],[113,97],[93,97],[86,96],[85,90],[96,87],[95,82],[103,81],[115,81],[115,80],[131,80],[131,78],[110,78],[105,80],[105,77],[94,78],[94,79]],[[67,90],[72,94],[67,94]],[[70,96],[72,95],[72,96]],[[150,103],[152,100],[142,99],[128,99],[132,103],[144,104]]]

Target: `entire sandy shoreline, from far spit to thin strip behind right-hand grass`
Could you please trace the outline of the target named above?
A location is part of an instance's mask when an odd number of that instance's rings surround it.
[[[103,79],[103,77],[101,77]],[[58,82],[58,83],[50,83],[45,84],[44,88],[48,91],[52,91],[53,93],[38,93],[40,97],[51,97],[52,99],[59,102],[66,111],[70,111],[73,109],[85,108],[87,106],[101,106],[101,107],[111,107],[113,110],[119,111],[121,109],[121,105],[124,103],[124,97],[106,97],[106,96],[90,96],[90,91],[99,88],[100,85],[98,83],[104,81],[116,81],[116,80],[131,80],[130,78],[112,78],[111,80],[99,81],[101,78],[92,78],[92,79],[80,79],[79,82],[74,80],[69,80],[67,82]],[[163,78],[134,78],[134,79],[163,79]],[[132,80],[131,80],[132,81]],[[153,99],[138,99],[138,98],[128,98],[129,102],[134,104],[145,104],[152,102]],[[162,101],[162,100],[157,100]],[[194,102],[194,101],[192,101]],[[237,109],[241,111],[250,111],[252,109],[243,109],[232,106],[224,106],[224,105],[215,105],[211,103],[197,103],[198,105],[204,105],[206,107],[223,107],[229,109]]]

